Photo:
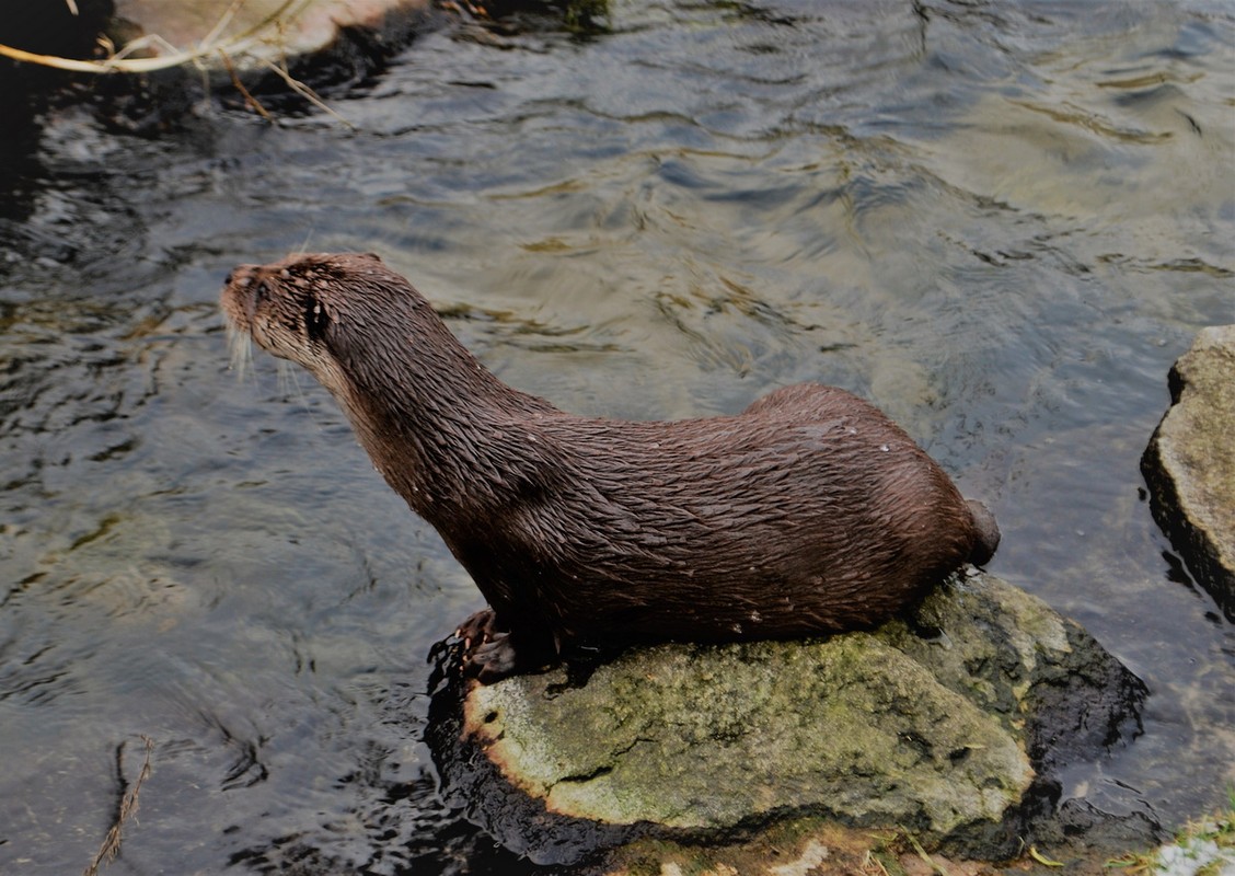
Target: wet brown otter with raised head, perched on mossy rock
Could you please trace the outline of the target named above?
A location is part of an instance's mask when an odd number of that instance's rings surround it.
[[[500,382],[374,255],[243,264],[237,336],[308,368],[488,608],[480,682],[579,647],[789,639],[873,626],[999,542],[913,439],[834,387],[730,416],[576,416]]]

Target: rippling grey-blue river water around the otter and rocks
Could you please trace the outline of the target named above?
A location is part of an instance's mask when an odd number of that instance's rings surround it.
[[[0,199],[0,871],[519,872],[438,799],[426,655],[482,605],[305,374],[241,377],[238,262],[374,250],[580,413],[888,410],[999,516],[992,568],[1149,684],[1067,796],[1235,783],[1235,633],[1137,470],[1235,319],[1223,2],[615,0],[417,40],[329,116],[11,135]],[[10,135],[6,133],[6,137]],[[367,869],[366,869],[367,867]]]

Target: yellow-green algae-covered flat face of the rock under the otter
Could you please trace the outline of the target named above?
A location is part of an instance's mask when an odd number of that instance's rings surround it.
[[[998,820],[1034,776],[998,720],[861,634],[634,649],[555,694],[564,682],[478,687],[464,719],[503,775],[563,815],[725,828],[823,808],[909,813],[942,836]]]

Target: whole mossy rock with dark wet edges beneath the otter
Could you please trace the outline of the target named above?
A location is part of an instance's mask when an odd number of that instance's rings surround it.
[[[1145,693],[1079,626],[986,575],[872,633],[579,668],[464,686],[446,666],[435,697],[447,792],[538,862],[803,817],[1014,855],[1053,772],[1135,731]]]

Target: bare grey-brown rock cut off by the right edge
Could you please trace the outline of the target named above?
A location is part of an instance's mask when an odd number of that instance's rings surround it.
[[[1235,620],[1235,325],[1202,330],[1168,377],[1141,471],[1158,526]]]

